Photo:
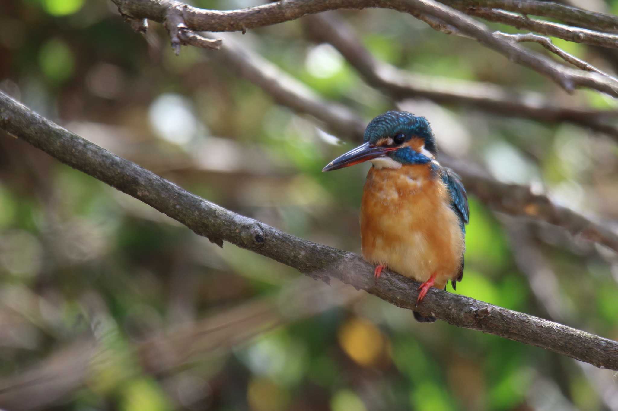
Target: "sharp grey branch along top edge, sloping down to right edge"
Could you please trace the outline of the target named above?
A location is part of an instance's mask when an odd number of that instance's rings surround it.
[[[398,10],[421,18],[430,15],[431,26],[447,28],[450,33],[458,33],[476,39],[481,44],[507,57],[510,61],[537,71],[567,92],[577,87],[588,87],[618,97],[618,80],[598,73],[565,67],[544,55],[519,46],[515,41],[492,33],[485,25],[468,17],[458,10],[444,6],[434,0],[287,0],[241,10],[205,10],[187,6],[172,0],[113,0],[122,15],[133,18],[149,18],[163,23],[171,8],[177,9],[188,30],[196,31],[243,31],[266,25],[282,23],[308,14],[316,14],[336,9],[366,9],[381,7]],[[174,43],[172,33],[172,44]]]

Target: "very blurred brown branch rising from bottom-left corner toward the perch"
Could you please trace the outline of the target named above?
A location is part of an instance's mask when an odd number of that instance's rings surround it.
[[[247,343],[275,327],[362,296],[340,282],[328,287],[300,278],[279,291],[276,298],[248,301],[197,322],[159,330],[133,343],[130,351],[137,354],[132,357],[140,361],[144,370],[161,376],[179,367],[186,368],[200,357]],[[0,408],[29,411],[56,404],[63,396],[87,385],[94,367],[113,367],[118,357],[108,353],[109,348],[92,336],[52,352],[34,367],[0,379]],[[127,379],[132,377],[120,374]]]

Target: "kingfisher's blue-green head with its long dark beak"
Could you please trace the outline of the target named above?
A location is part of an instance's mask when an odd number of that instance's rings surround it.
[[[370,121],[365,143],[332,160],[322,171],[371,161],[376,168],[430,163],[438,154],[436,139],[425,117],[390,111]]]

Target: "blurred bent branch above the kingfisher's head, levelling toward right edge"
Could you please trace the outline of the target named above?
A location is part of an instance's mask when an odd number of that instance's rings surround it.
[[[564,121],[608,134],[618,140],[618,128],[603,123],[606,118],[618,116],[618,110],[564,107],[535,92],[520,92],[491,83],[456,81],[400,70],[376,60],[360,43],[349,24],[332,13],[311,15],[303,18],[303,22],[312,39],[332,44],[366,83],[394,100],[425,97],[441,104],[470,106],[505,116]]]

